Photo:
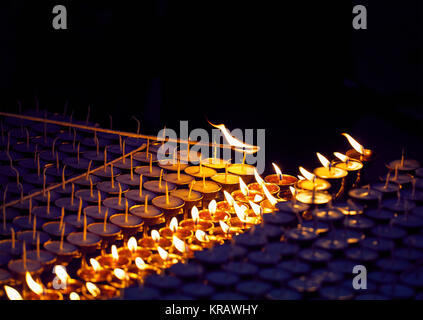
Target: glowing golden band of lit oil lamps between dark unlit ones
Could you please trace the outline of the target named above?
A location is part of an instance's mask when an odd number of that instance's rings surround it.
[[[230,240],[233,235],[260,224],[262,214],[275,211],[277,202],[293,198],[294,201],[306,204],[326,204],[342,193],[345,184],[348,183],[346,177],[349,174],[354,175],[353,184],[357,183],[359,172],[363,167],[362,161],[357,158],[366,161],[366,157],[370,156],[369,150],[361,147],[349,135],[346,137],[354,150],[350,150],[347,155],[335,153],[340,160],[337,162],[330,162],[321,154],[317,154],[323,166],[315,169],[314,173],[300,167],[302,176],[298,178],[282,174],[274,165],[276,173],[266,176],[263,180],[251,165],[242,163],[228,168],[223,160],[211,158],[201,162],[197,167],[185,168],[187,175],[200,178],[190,183],[189,189],[169,190],[168,183],[177,184],[184,179],[184,175],[180,173],[179,161],[170,164],[162,163],[161,169],[155,167],[156,170],[160,170],[159,180],[141,183],[139,191],[135,191],[139,192],[139,197],[142,195],[143,187],[152,192],[164,193],[152,199],[153,205],[148,204],[146,196],[144,205],[130,208],[126,205],[125,213],[115,214],[109,218],[111,223],[107,222],[106,212],[104,222],[89,225],[87,225],[84,211],[83,231],[72,232],[67,236],[67,241],[78,247],[82,253],[81,268],[77,272],[82,281],[71,279],[62,266],[56,265],[56,278],[46,287],[39,280],[39,271],[27,271],[22,294],[12,286],[5,285],[6,294],[9,299],[114,298],[121,294],[120,289],[137,283],[142,284],[146,275],[161,273],[175,263],[185,262],[192,258],[195,251],[222,244]],[[148,176],[153,173],[152,154],[147,151],[141,156],[150,158],[150,166],[141,167],[141,170],[137,172],[140,174],[140,181],[143,174]],[[175,166],[177,173],[163,176],[163,169],[172,170]],[[225,168],[225,173],[209,170],[213,168]],[[213,174],[211,175],[208,171]],[[206,177],[213,181],[207,181]],[[113,185],[113,177],[111,184]],[[237,189],[238,186],[239,189]],[[221,188],[223,188],[225,200],[216,202],[215,199]],[[327,192],[329,189],[332,190],[331,193]],[[121,192],[119,192],[119,201],[120,199]],[[202,203],[202,210],[197,208],[199,203]],[[178,222],[176,216],[180,216],[182,208],[185,213],[184,219]],[[101,212],[99,200],[98,214]],[[162,212],[164,215],[161,214]],[[158,231],[151,229],[148,236],[148,226],[156,225],[160,221],[159,216],[166,217],[166,226]],[[49,248],[49,251],[55,251],[62,256],[66,255],[65,224],[62,211],[62,219],[59,223],[59,230],[62,230],[61,240],[50,242],[51,248]],[[137,240],[134,235],[141,228],[144,229],[144,234]],[[120,233],[124,235],[124,245],[117,248],[112,243]],[[102,246],[101,254],[91,258],[89,264],[86,263],[85,255],[95,250],[100,242],[106,244]],[[112,244],[111,253],[107,254],[106,247],[109,244]],[[39,245],[37,247],[39,248]],[[29,260],[27,261],[24,248],[22,261],[24,270],[30,269],[27,268],[27,263]]]

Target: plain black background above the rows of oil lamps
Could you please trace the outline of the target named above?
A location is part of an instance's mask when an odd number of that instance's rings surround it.
[[[54,30],[63,4],[68,29]],[[368,30],[352,8],[368,9]],[[0,4],[1,110],[35,106],[102,127],[266,128],[266,159],[296,174],[348,145],[423,161],[422,5],[363,1],[9,1]],[[269,166],[267,166],[271,169]]]

